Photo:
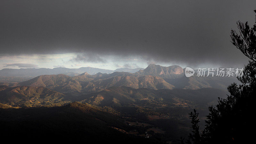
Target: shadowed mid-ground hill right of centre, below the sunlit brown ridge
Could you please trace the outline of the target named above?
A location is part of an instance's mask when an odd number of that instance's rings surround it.
[[[133,89],[131,87],[110,87],[100,92],[84,94],[76,97],[87,103],[100,106],[125,106],[125,105],[155,105],[154,107],[181,106],[181,107],[204,107],[217,102],[218,97],[226,97],[228,91],[216,88],[190,89],[160,89],[148,88]],[[180,101],[180,102],[177,102]],[[175,105],[180,103],[178,105]]]

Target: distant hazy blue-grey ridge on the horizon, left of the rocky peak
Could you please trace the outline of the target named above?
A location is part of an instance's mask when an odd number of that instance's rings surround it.
[[[57,74],[67,74],[70,76],[75,76],[87,72],[90,75],[97,73],[113,73],[113,72],[131,72],[135,73],[140,69],[144,68],[118,68],[116,70],[92,68],[92,67],[81,67],[81,68],[4,68],[0,70],[0,76],[16,76],[16,77],[36,77],[40,75],[57,75]]]

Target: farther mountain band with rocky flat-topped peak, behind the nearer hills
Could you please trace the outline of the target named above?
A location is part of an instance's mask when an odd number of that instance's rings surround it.
[[[61,68],[62,69],[62,68]],[[66,68],[64,68],[66,69]],[[186,77],[183,68],[180,66],[163,67],[160,65],[150,64],[144,70],[139,70],[135,73],[129,72],[113,72],[96,73],[90,75],[87,72],[76,74],[68,72],[69,75],[41,75],[35,78],[26,80],[17,77],[3,77],[4,79],[17,79],[16,83],[13,81],[2,81],[0,84],[10,86],[43,86],[58,92],[71,93],[88,93],[99,92],[112,86],[127,86],[131,88],[149,88],[149,89],[200,89],[200,88],[219,88],[226,90],[227,86],[233,82],[238,82],[236,77],[219,77],[208,76]],[[24,80],[21,82],[21,80]]]

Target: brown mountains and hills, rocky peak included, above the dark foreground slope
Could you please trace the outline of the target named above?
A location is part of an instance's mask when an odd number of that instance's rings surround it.
[[[17,77],[9,79],[23,80]],[[184,92],[183,97],[196,92],[190,92],[189,90],[200,90],[198,92],[201,93],[195,95],[203,96],[202,99],[204,98],[205,100],[206,97],[204,96],[206,94],[211,95],[221,90],[226,91],[227,86],[233,82],[236,82],[235,77],[191,76],[188,78],[184,75],[184,70],[179,66],[163,67],[150,64],[144,70],[139,70],[135,73],[114,72],[107,74],[99,72],[90,75],[85,72],[76,76],[64,74],[41,75],[22,82],[9,83],[8,86],[1,86],[0,103],[19,107],[25,105],[60,106],[72,101],[84,100],[84,102],[94,105],[100,104],[102,106],[105,103],[104,106],[111,106],[108,104],[116,103],[119,105],[127,102],[135,104],[134,102],[137,100],[149,100],[151,98],[172,99],[173,96],[177,97]],[[116,88],[118,88],[118,91],[122,91],[117,92]],[[213,88],[215,90],[205,88]],[[206,92],[202,91],[203,89]],[[163,90],[164,93],[156,94],[156,90],[158,90],[157,92]],[[111,94],[109,94],[110,92]],[[173,92],[175,94],[172,95]],[[116,97],[118,95],[120,95],[119,98]],[[217,94],[218,97],[219,95]],[[181,97],[179,96],[179,99]],[[191,97],[186,97],[186,100],[191,100]],[[170,102],[167,103],[170,104]],[[204,101],[204,103],[209,102]]]

